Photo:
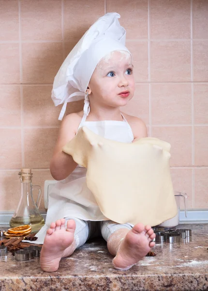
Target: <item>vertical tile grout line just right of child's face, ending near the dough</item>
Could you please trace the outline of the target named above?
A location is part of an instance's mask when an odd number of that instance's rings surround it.
[[[152,116],[151,116],[151,84],[150,84],[150,0],[148,0],[148,75],[149,75],[149,136],[152,136]]]

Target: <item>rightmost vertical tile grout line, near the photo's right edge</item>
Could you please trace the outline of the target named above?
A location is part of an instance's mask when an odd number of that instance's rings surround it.
[[[191,2],[191,81],[192,81],[192,164],[195,164],[194,96],[193,96],[193,0]],[[195,171],[192,170],[192,207],[195,207]]]

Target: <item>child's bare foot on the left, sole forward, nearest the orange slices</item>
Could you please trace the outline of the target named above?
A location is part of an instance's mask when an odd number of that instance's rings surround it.
[[[74,252],[74,230],[76,224],[74,220],[57,220],[48,228],[45,241],[41,250],[41,268],[45,272],[54,272],[59,268],[59,261]],[[70,247],[71,246],[71,247]]]

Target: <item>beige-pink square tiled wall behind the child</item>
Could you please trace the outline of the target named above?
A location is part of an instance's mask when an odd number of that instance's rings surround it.
[[[60,106],[50,98],[64,58],[89,26],[118,12],[132,51],[136,91],[125,112],[171,143],[176,191],[208,209],[208,1],[0,0],[0,210],[15,210],[18,171],[51,179]],[[68,113],[82,109],[82,101]],[[41,209],[44,209],[42,201]]]

